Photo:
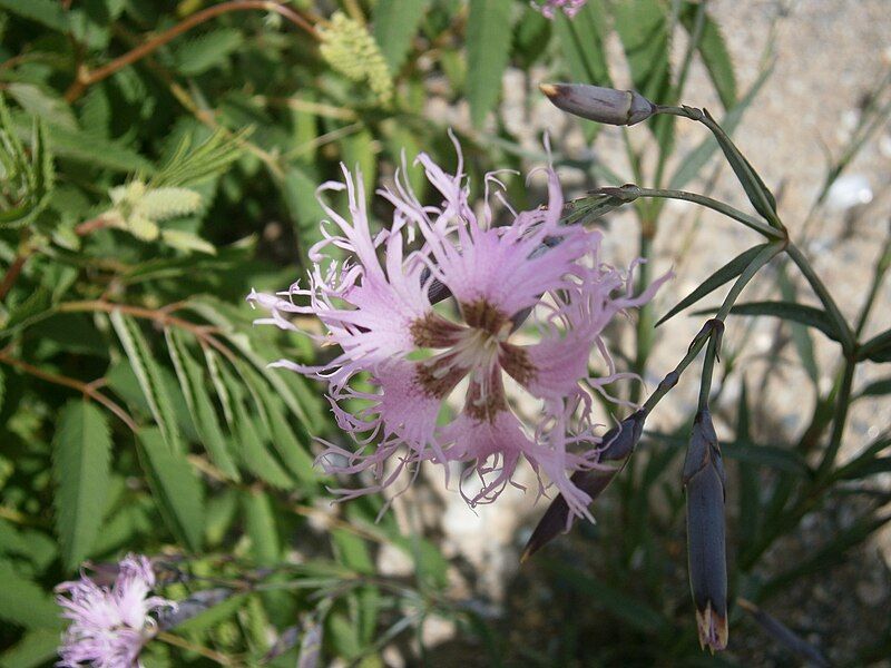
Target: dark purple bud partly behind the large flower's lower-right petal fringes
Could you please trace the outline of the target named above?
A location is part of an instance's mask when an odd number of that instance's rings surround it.
[[[616,474],[621,471],[625,462],[634,452],[637,441],[640,440],[646,416],[646,411],[637,411],[604,434],[604,449],[600,451],[600,459],[617,462],[614,469],[590,469],[588,471],[577,471],[572,474],[572,483],[587,493],[591,500],[597,499],[607,485],[613,482]],[[545,515],[536,525],[535,531],[532,531],[520,561],[526,561],[545,544],[569,529],[571,521],[569,504],[562,495],[557,497],[548,507],[548,510],[545,511]]]

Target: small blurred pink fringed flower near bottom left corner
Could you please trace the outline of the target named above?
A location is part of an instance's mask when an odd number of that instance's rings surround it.
[[[118,564],[111,587],[104,587],[81,573],[80,579],[56,588],[62,616],[71,620],[59,648],[58,666],[76,668],[134,668],[140,666],[143,646],[157,632],[149,615],[176,603],[148,596],[155,587],[151,562],[128,554]]]

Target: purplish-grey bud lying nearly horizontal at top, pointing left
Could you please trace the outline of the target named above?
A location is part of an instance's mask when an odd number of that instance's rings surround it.
[[[657,110],[656,105],[633,90],[587,84],[541,84],[539,88],[564,111],[607,125],[635,125]]]

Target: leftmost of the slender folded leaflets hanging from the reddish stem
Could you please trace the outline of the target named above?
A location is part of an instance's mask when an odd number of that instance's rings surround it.
[[[117,310],[111,312],[110,320],[165,443],[172,452],[184,452],[170,395],[139,325]]]

